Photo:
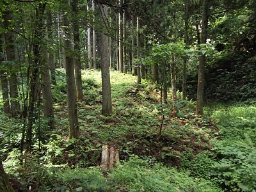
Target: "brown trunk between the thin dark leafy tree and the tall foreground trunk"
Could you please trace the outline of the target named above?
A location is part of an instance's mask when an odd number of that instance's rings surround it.
[[[42,57],[40,63],[42,65],[42,96],[44,103],[44,116],[47,118],[48,125],[54,129],[54,112],[52,106],[52,90],[51,90],[51,77],[49,71],[49,63],[47,61],[46,47],[41,47]]]

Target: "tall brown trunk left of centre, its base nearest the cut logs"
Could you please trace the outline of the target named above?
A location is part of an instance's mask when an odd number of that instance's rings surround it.
[[[69,5],[69,0],[66,0]],[[71,30],[70,22],[67,18],[67,14],[63,15],[64,24],[64,47],[65,47],[65,65],[66,65],[66,78],[67,78],[67,102],[68,102],[68,125],[69,125],[69,135],[68,138],[79,138],[79,125],[77,116],[77,106],[76,106],[76,86],[74,77],[74,63],[72,62],[72,44],[71,44]]]

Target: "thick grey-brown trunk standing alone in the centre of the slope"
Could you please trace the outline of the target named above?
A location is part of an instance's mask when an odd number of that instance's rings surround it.
[[[107,22],[108,8],[105,4],[100,5],[100,16],[102,22]],[[102,76],[102,115],[109,115],[112,113],[112,100],[111,100],[111,85],[109,75],[109,51],[108,51],[108,36],[101,34],[101,76]]]

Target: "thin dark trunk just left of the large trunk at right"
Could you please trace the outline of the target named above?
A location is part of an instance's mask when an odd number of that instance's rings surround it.
[[[189,19],[189,0],[185,1],[185,26],[184,26],[184,43],[186,47],[188,47],[189,40],[188,40],[188,19]],[[188,57],[184,56],[183,58],[183,76],[182,76],[182,99],[185,100],[187,97],[187,62]]]

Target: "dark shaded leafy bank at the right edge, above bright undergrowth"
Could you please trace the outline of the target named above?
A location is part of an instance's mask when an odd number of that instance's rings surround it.
[[[256,60],[243,53],[224,53],[207,67],[208,99],[244,101],[256,97]],[[211,82],[211,83],[210,83]]]

